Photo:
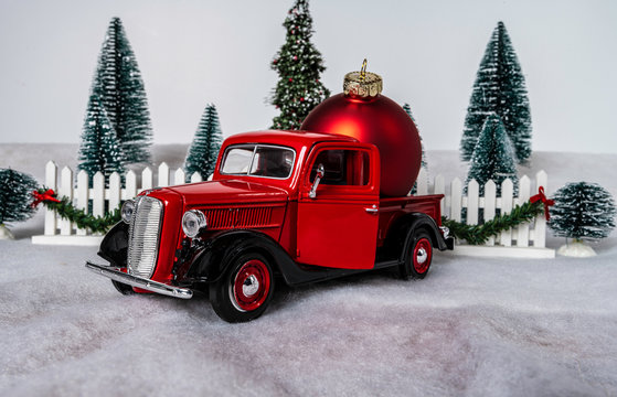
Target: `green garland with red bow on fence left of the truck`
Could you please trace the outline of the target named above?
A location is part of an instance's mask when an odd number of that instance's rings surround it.
[[[45,189],[39,189],[39,194],[45,194]],[[57,194],[53,193],[52,196],[57,200]],[[75,208],[71,200],[66,196],[55,202],[53,200],[40,201],[49,210],[55,211],[64,219],[74,222],[78,228],[87,228],[92,233],[105,233],[111,226],[120,222],[120,207],[106,213],[104,216],[94,216],[86,214],[84,210]]]

